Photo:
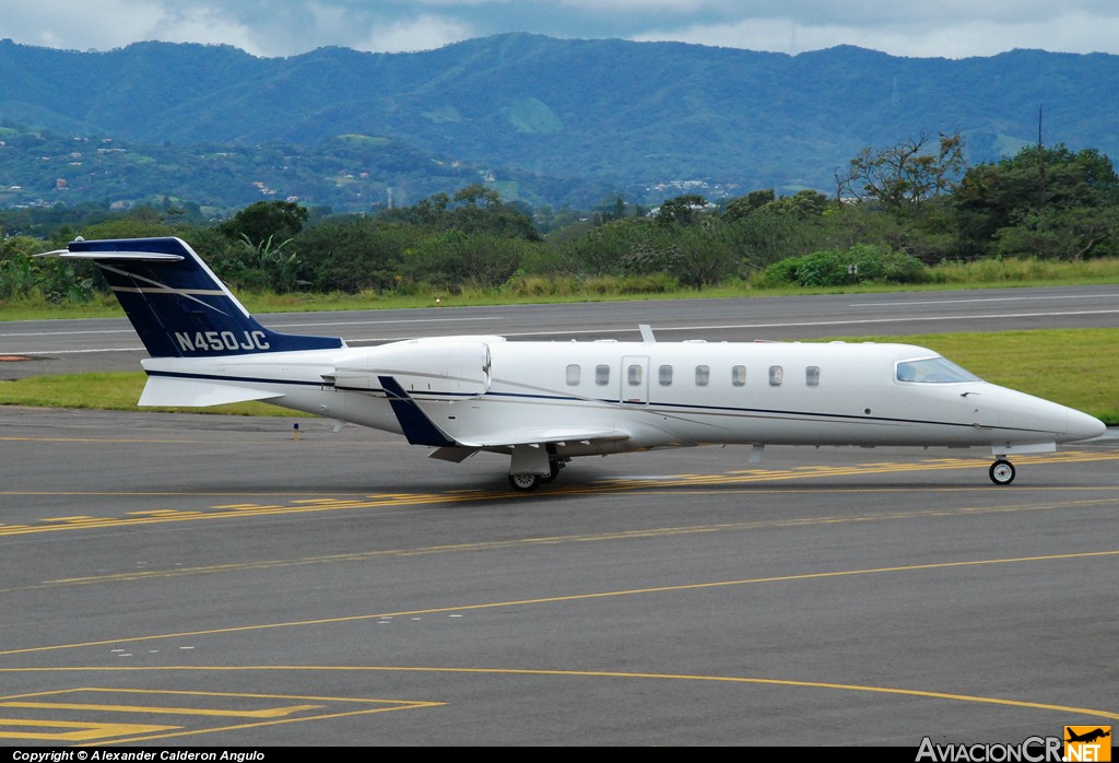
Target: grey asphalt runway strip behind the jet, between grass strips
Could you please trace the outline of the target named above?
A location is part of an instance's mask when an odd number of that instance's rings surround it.
[[[1113,328],[1119,285],[985,289],[891,294],[591,302],[481,308],[444,305],[258,315],[288,333],[342,337],[354,347],[413,337],[502,335],[510,339],[797,340],[943,331]],[[0,322],[0,380],[139,369],[147,357],[124,318]]]

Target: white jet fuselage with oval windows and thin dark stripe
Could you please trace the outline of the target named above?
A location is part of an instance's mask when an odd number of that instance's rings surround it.
[[[144,368],[153,379],[173,374],[224,390],[264,390],[253,397],[402,432],[382,387],[382,377],[392,376],[455,441],[506,451],[535,437],[562,458],[713,443],[982,445],[1007,453],[1052,450],[1102,431],[1091,416],[966,374],[900,378],[899,364],[928,358],[939,356],[886,343],[449,337],[156,358]],[[206,397],[194,404],[215,399]],[[592,430],[626,436],[563,436]]]

